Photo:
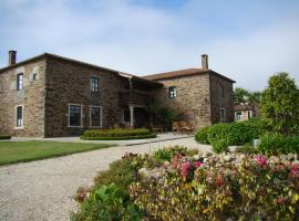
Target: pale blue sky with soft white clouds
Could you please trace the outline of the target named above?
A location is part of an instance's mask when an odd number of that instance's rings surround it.
[[[200,67],[261,91],[299,85],[298,0],[0,0],[0,67],[44,52],[138,76]]]

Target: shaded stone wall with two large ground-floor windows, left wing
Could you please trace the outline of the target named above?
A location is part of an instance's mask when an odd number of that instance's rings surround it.
[[[91,77],[100,80],[100,93],[91,92]],[[55,57],[48,59],[45,136],[80,135],[90,128],[90,105],[102,107],[103,128],[123,122],[118,92],[125,78],[113,72]],[[69,127],[69,104],[83,106],[83,126]]]

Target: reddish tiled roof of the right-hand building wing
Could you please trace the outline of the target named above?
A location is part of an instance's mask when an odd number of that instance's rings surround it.
[[[173,71],[173,72],[164,72],[159,74],[145,75],[143,76],[143,78],[151,80],[151,81],[159,81],[159,80],[177,78],[177,77],[200,75],[200,74],[214,74],[229,82],[236,83],[234,80],[228,78],[213,70],[205,70],[205,69],[186,69],[186,70],[178,70],[178,71]]]

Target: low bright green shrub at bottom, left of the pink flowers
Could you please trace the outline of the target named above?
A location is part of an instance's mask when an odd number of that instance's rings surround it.
[[[128,192],[111,183],[93,190],[71,220],[141,220],[142,217],[143,212],[130,200]]]

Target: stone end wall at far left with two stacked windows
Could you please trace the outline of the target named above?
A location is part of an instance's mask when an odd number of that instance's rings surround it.
[[[17,74],[19,73],[23,73],[22,91],[17,91]],[[0,73],[0,134],[22,137],[44,136],[44,81],[45,60]],[[21,128],[17,128],[16,107],[18,105],[23,106],[23,127]]]

